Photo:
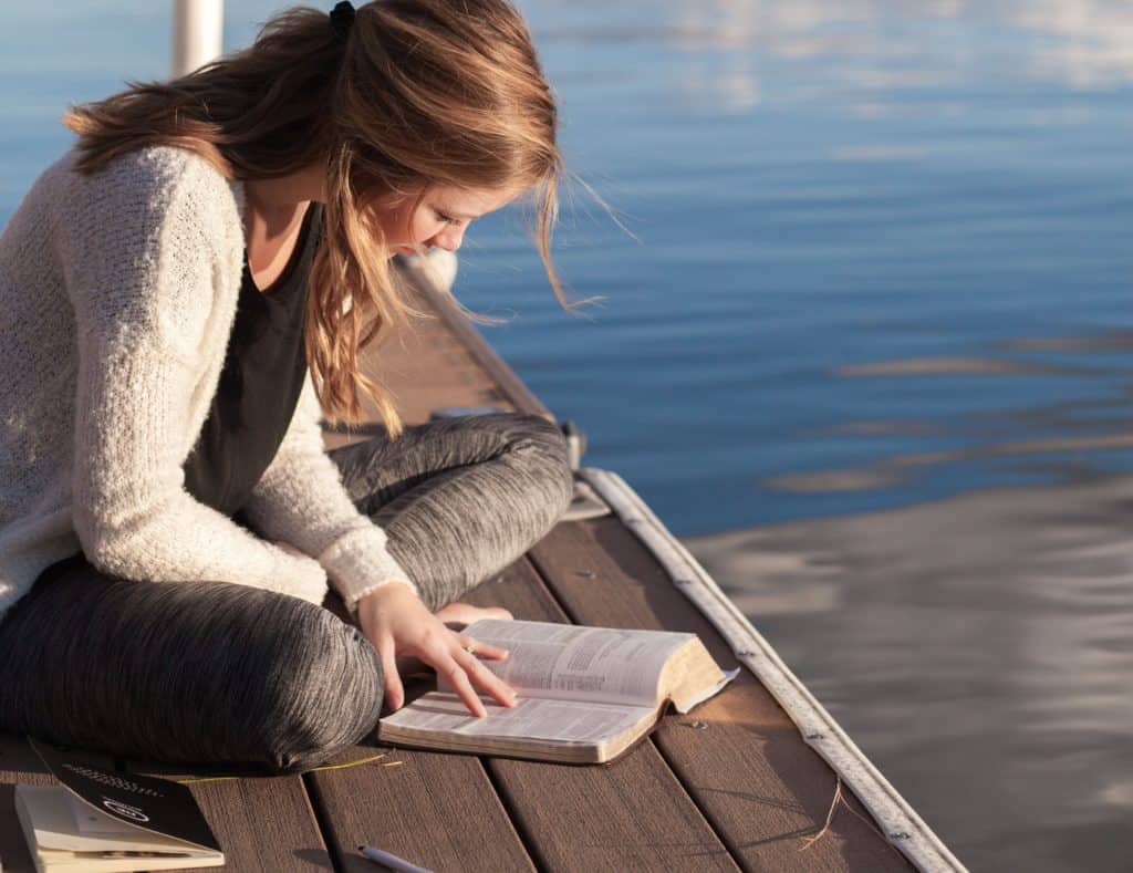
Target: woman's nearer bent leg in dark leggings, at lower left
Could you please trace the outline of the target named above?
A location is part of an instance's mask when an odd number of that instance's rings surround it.
[[[7,729],[128,758],[310,767],[373,730],[374,647],[320,606],[83,565],[0,625]]]

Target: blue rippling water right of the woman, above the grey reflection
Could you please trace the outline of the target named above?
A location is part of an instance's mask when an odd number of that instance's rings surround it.
[[[492,341],[583,425],[589,461],[681,533],[1048,480],[1080,454],[821,487],[894,456],[1076,433],[1123,397],[1124,350],[1012,344],[1133,324],[1133,55],[1056,63],[1092,51],[1100,22],[1076,37],[995,7],[786,6],[531,5],[566,154],[641,242],[593,205],[564,228],[564,274],[607,298],[595,323],[556,313],[494,225],[474,234],[463,299],[517,311]],[[1039,369],[956,373],[954,358]],[[853,369],[918,361],[930,371]],[[1124,428],[1121,412],[1094,410],[1091,431]]]

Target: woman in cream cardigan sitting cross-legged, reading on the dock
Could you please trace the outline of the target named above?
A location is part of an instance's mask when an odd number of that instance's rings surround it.
[[[450,601],[562,514],[565,442],[402,428],[358,351],[410,313],[393,254],[522,194],[562,300],[555,119],[505,0],[292,9],[68,113],[0,237],[0,728],[293,771],[402,704],[402,656],[514,704],[477,657],[505,652],[445,622],[506,615]],[[389,436],[329,456],[320,406],[360,393]]]

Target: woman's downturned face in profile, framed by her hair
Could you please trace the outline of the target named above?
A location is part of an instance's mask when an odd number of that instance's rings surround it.
[[[391,256],[412,255],[415,249],[434,246],[455,251],[469,224],[506,206],[518,196],[518,191],[434,185],[425,189],[419,204],[416,197],[408,195],[387,200],[378,223]]]

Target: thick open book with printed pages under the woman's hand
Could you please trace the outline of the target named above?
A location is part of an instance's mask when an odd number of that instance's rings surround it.
[[[519,692],[514,708],[482,694],[472,716],[451,688],[421,695],[378,721],[378,738],[420,748],[540,761],[611,761],[657,722],[718,692],[724,673],[696,634],[484,619],[465,628],[511,651],[483,664]]]

